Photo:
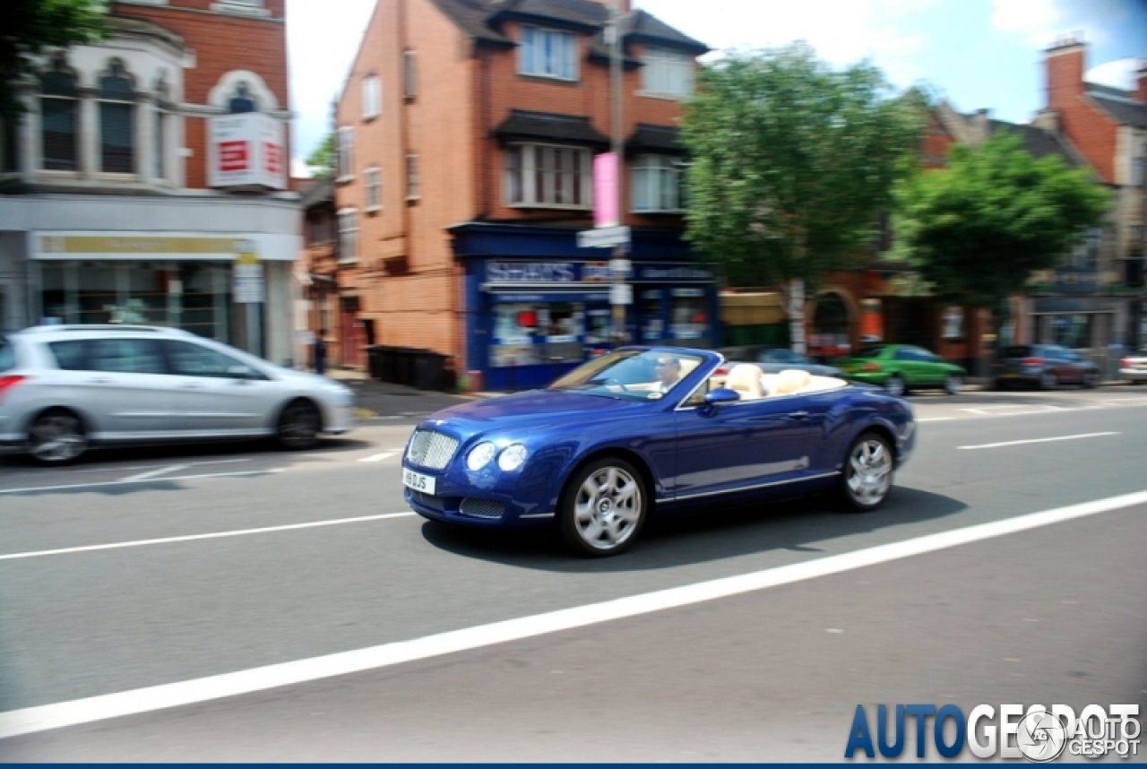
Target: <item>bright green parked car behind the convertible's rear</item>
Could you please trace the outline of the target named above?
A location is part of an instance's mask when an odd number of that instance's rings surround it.
[[[849,379],[880,384],[892,395],[919,388],[943,388],[955,395],[966,375],[961,366],[912,344],[866,345],[833,365]]]

